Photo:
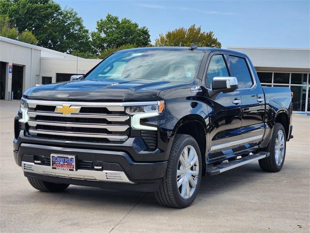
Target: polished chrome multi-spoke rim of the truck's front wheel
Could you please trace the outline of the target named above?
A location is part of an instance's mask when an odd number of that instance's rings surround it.
[[[190,198],[196,190],[199,178],[199,159],[193,146],[186,146],[182,150],[176,178],[181,197]]]

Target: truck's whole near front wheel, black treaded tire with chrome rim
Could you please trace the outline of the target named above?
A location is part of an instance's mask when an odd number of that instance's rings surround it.
[[[186,151],[188,152],[187,160],[185,159],[186,155],[184,155],[183,150],[185,153]],[[181,155],[182,158],[180,159]],[[195,159],[191,160],[191,158]],[[194,165],[191,166],[188,161],[191,161]],[[177,171],[179,171],[179,175],[177,175]],[[176,134],[171,148],[166,174],[161,180],[159,190],[155,192],[157,202],[163,206],[173,208],[185,208],[189,206],[197,196],[201,177],[202,156],[196,140],[187,134]]]

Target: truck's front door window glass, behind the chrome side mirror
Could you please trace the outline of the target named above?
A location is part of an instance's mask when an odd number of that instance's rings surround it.
[[[228,69],[223,55],[214,55],[211,57],[207,69],[206,77],[209,81],[209,86],[212,88],[212,81],[214,77],[228,77]]]

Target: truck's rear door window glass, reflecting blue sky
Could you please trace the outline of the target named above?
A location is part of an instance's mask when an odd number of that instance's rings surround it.
[[[231,61],[232,75],[238,80],[238,88],[249,88],[253,85],[253,81],[248,70],[247,62],[244,58],[229,56]]]

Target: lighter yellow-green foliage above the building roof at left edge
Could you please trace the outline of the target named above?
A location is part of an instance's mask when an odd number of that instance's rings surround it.
[[[7,15],[0,15],[0,36],[19,40],[33,45],[37,43],[37,39],[30,31],[19,33]]]

